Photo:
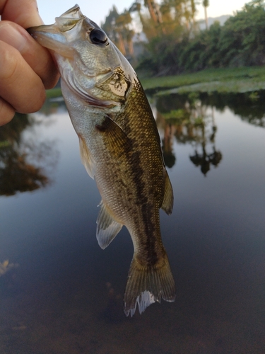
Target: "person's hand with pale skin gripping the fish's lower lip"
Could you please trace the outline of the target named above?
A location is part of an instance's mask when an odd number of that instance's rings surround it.
[[[0,125],[33,113],[59,79],[49,51],[25,30],[42,25],[35,0],[0,0]]]

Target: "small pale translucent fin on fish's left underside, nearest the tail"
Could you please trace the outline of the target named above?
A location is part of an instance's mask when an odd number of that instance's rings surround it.
[[[97,239],[100,247],[105,249],[122,229],[122,224],[113,219],[105,204],[101,202],[100,205],[101,208],[97,219]]]

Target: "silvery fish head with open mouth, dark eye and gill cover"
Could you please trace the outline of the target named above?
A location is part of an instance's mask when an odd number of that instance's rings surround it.
[[[61,78],[84,102],[94,107],[120,106],[124,103],[128,82],[136,75],[112,43],[100,42],[101,38],[93,42],[90,37],[93,30],[105,35],[75,5],[55,18],[54,24],[28,28],[28,33],[40,45],[52,50]],[[97,55],[102,60],[95,61]]]

